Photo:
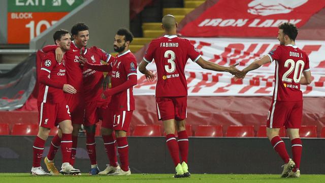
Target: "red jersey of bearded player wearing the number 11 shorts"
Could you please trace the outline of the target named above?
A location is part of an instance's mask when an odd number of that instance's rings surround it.
[[[130,50],[121,55],[117,55],[111,63],[111,67],[112,88],[123,84],[125,81],[127,81],[128,76],[133,74],[137,75],[137,59]],[[111,110],[135,110],[133,87],[113,95],[108,107]]]

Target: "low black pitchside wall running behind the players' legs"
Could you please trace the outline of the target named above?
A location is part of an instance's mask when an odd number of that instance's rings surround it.
[[[32,136],[0,136],[0,172],[29,172],[32,164]],[[43,157],[47,155],[47,140]],[[75,167],[88,172],[90,165],[85,137],[78,140]],[[189,170],[191,173],[280,174],[283,164],[267,138],[189,138]],[[129,163],[132,173],[174,173],[164,137],[129,137]],[[103,139],[96,137],[98,165],[108,164]],[[289,155],[290,142],[284,138]],[[303,174],[323,174],[325,139],[302,139]],[[60,167],[61,153],[55,158]],[[46,168],[43,161],[42,167]]]

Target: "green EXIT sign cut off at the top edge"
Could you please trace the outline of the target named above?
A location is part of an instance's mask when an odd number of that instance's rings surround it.
[[[8,12],[70,12],[84,0],[8,0]]]

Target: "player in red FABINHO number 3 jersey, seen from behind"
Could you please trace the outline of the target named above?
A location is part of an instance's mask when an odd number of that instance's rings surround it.
[[[163,120],[166,132],[166,143],[175,164],[175,178],[189,177],[187,167],[188,138],[185,130],[187,113],[187,82],[184,69],[188,58],[204,69],[239,74],[233,65],[223,67],[204,60],[199,51],[187,39],[176,36],[178,24],[173,15],[163,18],[161,27],[165,36],[151,41],[139,65],[139,71],[153,81],[154,75],[146,69],[147,64],[154,62],[157,66],[156,107],[159,120]],[[175,126],[178,141],[175,138]],[[182,158],[180,164],[179,152]]]

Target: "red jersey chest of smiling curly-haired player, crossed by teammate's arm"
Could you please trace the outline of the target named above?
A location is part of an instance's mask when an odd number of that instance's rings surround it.
[[[83,54],[90,64],[96,65],[102,65],[101,60],[104,60],[106,63],[111,63],[114,59],[113,56],[95,46],[86,48]],[[85,101],[91,102],[101,100],[101,94],[103,93],[103,73],[94,71],[84,66],[82,76],[84,84]]]

